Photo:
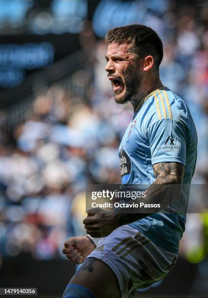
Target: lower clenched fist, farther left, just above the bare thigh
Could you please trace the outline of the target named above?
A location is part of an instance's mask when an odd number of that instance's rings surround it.
[[[95,248],[89,236],[71,237],[64,243],[62,252],[70,261],[81,264]]]

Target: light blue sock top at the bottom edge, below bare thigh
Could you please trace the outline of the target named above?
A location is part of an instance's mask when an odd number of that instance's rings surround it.
[[[76,283],[69,283],[62,298],[95,298],[93,292]]]

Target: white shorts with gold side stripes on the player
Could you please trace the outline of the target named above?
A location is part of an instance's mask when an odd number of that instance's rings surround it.
[[[123,225],[101,238],[87,258],[91,257],[105,262],[113,270],[121,298],[132,298],[136,289],[163,279],[178,256],[156,246],[130,225]]]

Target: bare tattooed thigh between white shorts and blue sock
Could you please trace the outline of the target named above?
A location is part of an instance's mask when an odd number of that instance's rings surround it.
[[[70,283],[88,288],[96,298],[121,297],[118,281],[112,269],[96,258],[86,259]]]

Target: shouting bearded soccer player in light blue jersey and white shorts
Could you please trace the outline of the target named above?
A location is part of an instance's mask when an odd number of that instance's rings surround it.
[[[106,42],[114,99],[118,104],[130,101],[134,110],[119,148],[122,184],[149,184],[146,202],[155,203],[160,194],[152,186],[190,184],[197,155],[195,126],[186,103],[160,80],[163,44],[155,31],[138,24],[114,28]],[[83,223],[92,238],[72,237],[64,244],[63,253],[83,264],[63,297],[127,298],[168,274],[177,260],[186,216],[177,210],[131,214],[100,209]]]

